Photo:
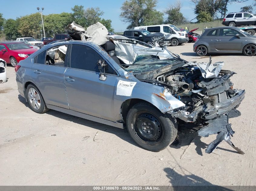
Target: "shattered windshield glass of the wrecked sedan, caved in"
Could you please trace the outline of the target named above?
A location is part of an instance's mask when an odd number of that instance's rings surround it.
[[[136,57],[132,65],[124,68],[124,70],[127,72],[131,71],[133,74],[138,74],[143,72],[150,72],[167,65],[175,65],[180,62],[183,62],[183,60],[178,58],[160,60],[157,56],[140,55]]]

